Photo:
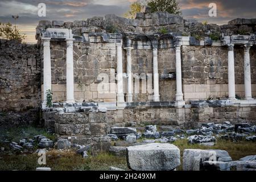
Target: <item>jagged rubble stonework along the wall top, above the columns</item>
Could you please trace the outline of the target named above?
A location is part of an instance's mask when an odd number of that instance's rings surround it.
[[[166,12],[149,13],[143,11],[138,13],[135,19],[126,19],[114,14],[104,17],[94,16],[86,20],[75,20],[74,22],[48,21],[39,22],[36,37],[40,36],[40,29],[43,28],[72,28],[76,36],[88,36],[89,33],[98,32],[137,32],[152,35],[162,32],[181,32],[183,36],[195,36],[197,39],[204,40],[210,36],[220,39],[224,35],[250,35],[256,31],[256,19],[234,19],[228,24],[203,24],[195,19],[183,19],[181,16]]]

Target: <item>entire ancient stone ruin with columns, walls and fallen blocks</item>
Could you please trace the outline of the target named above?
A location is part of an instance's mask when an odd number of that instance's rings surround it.
[[[134,143],[140,135],[133,126],[146,123],[199,128],[186,131],[192,135],[189,142],[210,145],[216,141],[210,132],[234,130],[231,123],[220,123],[256,121],[255,32],[256,19],[218,26],[150,13],[148,8],[135,19],[105,15],[74,22],[41,20],[36,45],[1,40],[0,111],[18,113],[1,116],[0,121],[32,122],[42,111],[45,127],[60,139],[58,146],[69,146],[69,139],[84,145],[79,149],[82,155],[88,147],[109,150],[110,141],[118,138]],[[47,106],[47,90],[53,92],[52,107]],[[208,126],[209,122],[215,123]],[[239,129],[255,132],[250,125]],[[154,126],[146,130],[146,138],[163,143],[179,134],[159,133]],[[143,156],[153,155],[158,147],[148,143],[150,150],[143,147]],[[180,165],[179,148],[168,145],[160,146],[163,154],[158,153],[166,166],[155,169]],[[126,154],[126,148],[111,150]],[[151,169],[135,164],[140,150],[127,148],[130,168]],[[192,165],[189,155],[194,153],[209,158],[209,151],[187,150],[184,168],[207,168],[207,161],[199,164],[200,158]],[[229,156],[224,153],[217,151]],[[231,160],[218,160],[214,167],[225,168]]]

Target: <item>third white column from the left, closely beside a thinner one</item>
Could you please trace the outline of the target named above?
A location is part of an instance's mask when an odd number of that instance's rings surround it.
[[[117,105],[121,106],[122,103],[125,102],[125,95],[123,94],[122,43],[116,43],[116,46],[117,46]]]

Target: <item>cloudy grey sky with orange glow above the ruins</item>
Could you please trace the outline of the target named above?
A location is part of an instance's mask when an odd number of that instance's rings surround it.
[[[93,16],[116,14],[123,16],[136,0],[0,0],[0,22],[15,23],[27,35],[27,43],[35,43],[35,27],[39,20],[85,20]],[[226,24],[234,18],[256,18],[256,0],[176,0],[184,19]],[[46,4],[46,17],[38,16],[38,4]],[[217,17],[209,17],[209,3],[216,3]]]

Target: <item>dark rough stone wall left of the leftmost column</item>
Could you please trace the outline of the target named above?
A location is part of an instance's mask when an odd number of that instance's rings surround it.
[[[0,40],[0,112],[40,107],[41,59],[36,45]]]

